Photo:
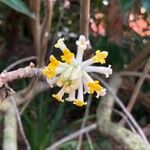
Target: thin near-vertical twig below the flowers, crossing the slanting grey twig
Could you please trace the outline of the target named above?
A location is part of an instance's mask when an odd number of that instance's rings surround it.
[[[88,97],[88,104],[86,105],[86,110],[85,110],[84,118],[83,118],[83,121],[82,121],[81,129],[83,129],[85,127],[85,124],[86,124],[86,121],[87,121],[87,118],[88,118],[88,115],[89,115],[89,110],[90,110],[91,102],[92,102],[92,96],[90,95]],[[77,150],[81,149],[82,140],[83,140],[83,134],[80,134],[79,141],[78,141],[78,146],[77,146]]]

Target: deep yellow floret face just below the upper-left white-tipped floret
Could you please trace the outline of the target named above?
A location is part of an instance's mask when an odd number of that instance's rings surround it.
[[[62,61],[65,61],[67,64],[71,64],[74,54],[69,51],[69,49],[65,48],[63,50],[63,56],[61,56]]]

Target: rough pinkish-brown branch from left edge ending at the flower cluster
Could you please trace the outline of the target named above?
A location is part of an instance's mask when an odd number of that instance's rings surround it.
[[[41,69],[35,68],[33,66],[28,66],[25,68],[19,68],[15,71],[3,72],[0,74],[0,87],[2,87],[5,83],[11,82],[16,79],[33,77],[33,76],[41,76]]]

